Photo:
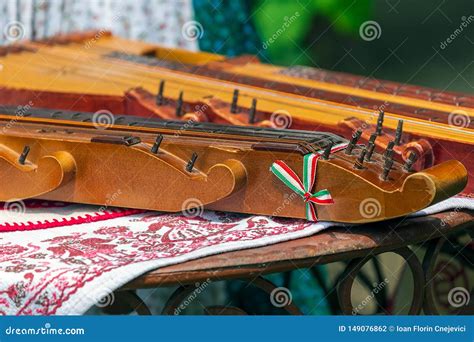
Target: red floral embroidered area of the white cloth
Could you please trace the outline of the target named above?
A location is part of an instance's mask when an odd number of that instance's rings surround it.
[[[261,238],[310,225],[227,213],[206,212],[196,218],[142,213],[38,230],[31,236],[28,232],[0,234],[0,315],[56,314],[68,301],[77,301],[77,292],[84,286],[102,286],[99,277],[118,268],[140,267],[145,261],[158,262],[231,242],[247,242],[251,247]],[[23,241],[17,241],[19,237]],[[125,278],[121,281],[131,280]],[[71,309],[68,313],[82,312]]]

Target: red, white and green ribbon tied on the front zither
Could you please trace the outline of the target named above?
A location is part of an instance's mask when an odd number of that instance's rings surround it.
[[[347,143],[339,144],[331,149],[331,153],[346,148]],[[306,218],[310,221],[317,221],[315,205],[330,205],[334,203],[331,194],[327,189],[311,193],[316,179],[316,167],[322,151],[310,153],[303,158],[303,181],[298,175],[282,160],[275,161],[270,171],[278,177],[286,186],[300,195],[306,203]]]

